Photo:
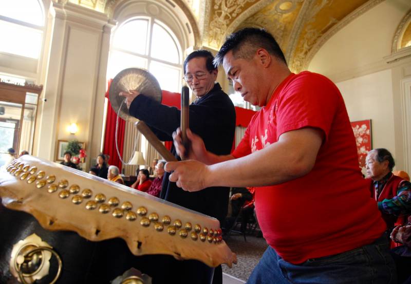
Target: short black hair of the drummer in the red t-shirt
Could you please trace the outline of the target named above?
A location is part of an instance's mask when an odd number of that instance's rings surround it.
[[[264,48],[287,64],[283,51],[269,32],[265,29],[245,28],[227,36],[226,42],[215,56],[214,65],[221,65],[224,56],[230,50],[233,51],[234,58],[252,59],[259,48]]]

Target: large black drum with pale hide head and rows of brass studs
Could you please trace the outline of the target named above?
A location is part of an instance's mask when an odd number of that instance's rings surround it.
[[[236,261],[216,219],[39,158],[2,169],[0,197],[1,283],[210,283]]]

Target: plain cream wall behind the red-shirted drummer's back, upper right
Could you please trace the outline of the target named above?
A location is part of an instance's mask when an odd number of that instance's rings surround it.
[[[391,55],[391,46],[410,9],[409,0],[381,2],[332,35],[308,67],[337,83],[351,121],[372,120],[372,146],[391,150],[399,169],[411,168],[401,90],[411,77],[411,52]]]

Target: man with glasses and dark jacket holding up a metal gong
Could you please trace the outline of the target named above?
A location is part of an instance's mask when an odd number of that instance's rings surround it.
[[[204,140],[207,150],[216,155],[228,155],[233,146],[235,110],[230,98],[215,83],[218,70],[213,60],[210,51],[196,50],[184,61],[184,80],[196,96],[189,106],[190,129]],[[173,131],[180,126],[180,110],[162,105],[134,90],[121,92],[120,95],[126,98],[130,115],[150,126],[161,141],[173,140]],[[172,152],[180,159],[174,146]],[[215,217],[220,223],[225,219],[229,187],[209,187],[201,192],[189,193],[175,182],[170,182],[169,176],[170,173],[164,175],[160,198]],[[213,283],[221,282],[222,272],[218,267]]]

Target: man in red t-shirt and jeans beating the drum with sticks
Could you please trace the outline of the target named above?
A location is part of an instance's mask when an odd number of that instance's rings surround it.
[[[178,152],[197,161],[165,169],[188,191],[256,186],[269,247],[248,283],[395,282],[385,223],[362,178],[337,86],[320,74],[291,73],[272,35],[260,29],[231,34],[214,62],[261,110],[227,156],[207,152],[189,130],[192,150],[185,153],[177,130]]]

